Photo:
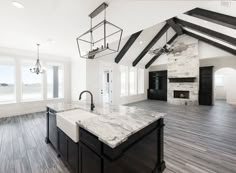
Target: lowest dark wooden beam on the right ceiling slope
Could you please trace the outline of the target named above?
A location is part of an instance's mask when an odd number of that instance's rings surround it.
[[[236,55],[236,50],[235,50],[235,49],[229,48],[229,47],[227,47],[227,46],[225,46],[225,45],[222,45],[222,44],[220,44],[220,43],[217,43],[217,42],[215,42],[215,41],[209,40],[209,39],[207,39],[207,38],[205,38],[205,37],[202,37],[202,36],[200,36],[200,35],[194,34],[194,33],[192,33],[192,32],[186,31],[186,30],[184,30],[184,34],[189,35],[189,36],[191,36],[191,37],[194,37],[194,38],[196,38],[196,39],[198,39],[198,40],[201,40],[201,41],[203,41],[203,42],[205,42],[205,43],[208,43],[208,44],[210,44],[210,45],[212,45],[212,46],[215,46],[215,47],[217,47],[217,48],[219,48],[219,49],[221,49],[221,50],[224,50],[224,51],[226,51],[226,52],[229,52],[229,53],[231,53],[231,54],[233,54],[233,55]]]

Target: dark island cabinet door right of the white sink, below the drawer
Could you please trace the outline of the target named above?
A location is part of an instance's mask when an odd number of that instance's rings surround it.
[[[102,173],[102,167],[102,159],[93,150],[80,142],[79,173]]]

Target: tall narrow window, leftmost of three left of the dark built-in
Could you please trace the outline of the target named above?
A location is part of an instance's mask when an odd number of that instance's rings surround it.
[[[128,67],[120,66],[120,95],[128,96]]]

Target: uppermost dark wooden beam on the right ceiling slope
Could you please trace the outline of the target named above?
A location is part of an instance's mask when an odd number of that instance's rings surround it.
[[[236,17],[201,9],[195,8],[191,11],[188,11],[186,14],[223,25],[225,27],[236,29]]]

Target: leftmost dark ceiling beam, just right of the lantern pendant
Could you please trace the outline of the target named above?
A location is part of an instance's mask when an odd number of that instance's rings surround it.
[[[141,34],[141,32],[142,31],[136,32],[130,36],[129,40],[125,43],[124,47],[121,49],[119,54],[116,56],[116,58],[115,58],[116,63],[120,62],[120,60],[123,58],[123,56],[129,50],[129,48],[133,45],[133,43],[138,38],[138,36]]]

